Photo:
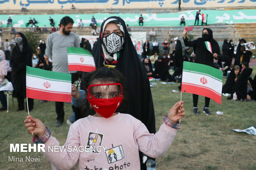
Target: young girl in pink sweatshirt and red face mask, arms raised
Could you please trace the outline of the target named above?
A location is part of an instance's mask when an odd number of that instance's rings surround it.
[[[133,116],[115,113],[123,99],[123,80],[114,68],[100,68],[88,74],[83,81],[88,93],[87,105],[96,113],[70,126],[64,144],[66,151],[48,151],[48,147],[59,146],[59,142],[39,119],[26,116],[28,133],[33,130],[33,142],[45,144],[43,154],[53,169],[68,170],[79,160],[79,170],[139,170],[139,151],[152,158],[168,151],[180,128],[178,120],[185,116],[183,101],[168,111],[159,131],[150,134]]]

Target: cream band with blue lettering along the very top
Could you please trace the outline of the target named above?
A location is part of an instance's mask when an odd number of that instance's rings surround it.
[[[178,0],[0,0],[0,9],[121,9],[121,8],[177,8]],[[182,0],[181,8],[199,7],[252,7],[255,0]]]

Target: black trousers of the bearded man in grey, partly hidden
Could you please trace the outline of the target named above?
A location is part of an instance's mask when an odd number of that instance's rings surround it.
[[[78,79],[77,73],[71,73],[71,83],[73,84]],[[73,112],[79,112],[79,109],[72,106]],[[55,102],[55,110],[57,113],[57,121],[64,121],[64,102]]]

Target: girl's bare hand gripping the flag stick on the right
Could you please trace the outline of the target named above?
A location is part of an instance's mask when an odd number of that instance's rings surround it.
[[[183,118],[185,116],[185,109],[183,108],[183,101],[177,102],[173,107],[169,110],[167,117],[170,119],[173,123],[176,123],[180,118]]]

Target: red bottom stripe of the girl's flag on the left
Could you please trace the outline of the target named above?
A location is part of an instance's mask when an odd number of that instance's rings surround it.
[[[71,102],[71,93],[70,94],[60,94],[60,93],[50,93],[39,90],[26,89],[27,97],[34,98],[39,100],[48,100],[55,102]]]

